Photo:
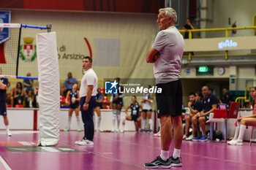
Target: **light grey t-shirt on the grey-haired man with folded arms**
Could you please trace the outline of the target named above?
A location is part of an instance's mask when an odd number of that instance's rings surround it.
[[[181,58],[184,39],[175,26],[159,31],[152,47],[159,51],[160,58],[154,62],[156,84],[181,79]]]

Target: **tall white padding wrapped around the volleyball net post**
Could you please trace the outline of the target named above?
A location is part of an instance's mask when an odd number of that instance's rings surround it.
[[[59,142],[59,62],[56,33],[37,34],[39,144]]]

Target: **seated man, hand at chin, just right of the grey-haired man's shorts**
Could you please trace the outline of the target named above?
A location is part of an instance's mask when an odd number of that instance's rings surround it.
[[[202,101],[197,101],[195,99],[195,93],[189,93],[189,103],[187,104],[189,107],[189,116],[186,117],[186,131],[185,131],[185,136],[186,136],[186,141],[191,141],[193,138],[196,138],[196,133],[197,137],[199,139],[200,136],[200,131],[198,128],[197,123],[194,124],[192,123],[192,119],[197,119],[197,113],[202,110]],[[189,136],[189,128],[190,124],[192,124],[192,135]]]

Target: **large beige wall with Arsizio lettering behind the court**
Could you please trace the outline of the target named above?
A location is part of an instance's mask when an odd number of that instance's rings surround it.
[[[60,12],[37,10],[12,10],[11,22],[36,26],[52,24],[56,31],[59,58],[60,79],[67,79],[67,73],[80,79],[82,75],[81,59],[64,58],[64,55],[90,55],[84,38],[91,45],[92,55],[96,61],[97,43],[95,39],[118,39],[120,53],[118,66],[93,65],[99,80],[105,78],[153,78],[153,65],[146,63],[146,53],[150,49],[159,28],[155,14],[128,14],[110,12]],[[20,45],[24,37],[33,37],[45,32],[37,29],[23,28]],[[34,43],[35,45],[35,39]],[[110,47],[111,45],[108,44]],[[107,45],[105,45],[107,46]],[[65,50],[61,50],[65,47]],[[108,48],[110,49],[110,48]],[[105,53],[113,53],[106,50]],[[98,56],[105,58],[105,55]],[[98,58],[98,59],[99,59]],[[25,76],[31,72],[37,77],[37,61],[19,62],[19,75]]]

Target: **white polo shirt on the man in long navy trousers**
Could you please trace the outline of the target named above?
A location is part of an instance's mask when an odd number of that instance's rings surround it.
[[[84,97],[87,95],[88,85],[94,85],[91,96],[96,96],[97,95],[98,78],[93,69],[88,69],[83,74],[83,78],[81,80],[80,91],[79,91],[80,97]]]

